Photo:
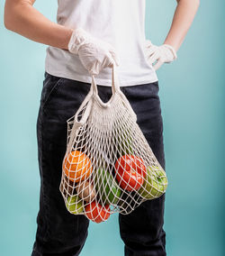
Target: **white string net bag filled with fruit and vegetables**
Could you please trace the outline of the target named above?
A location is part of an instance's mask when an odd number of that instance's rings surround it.
[[[166,172],[137,123],[112,68],[112,97],[103,103],[92,85],[76,114],[67,120],[67,151],[60,192],[67,210],[95,223],[112,213],[129,214],[162,196]]]

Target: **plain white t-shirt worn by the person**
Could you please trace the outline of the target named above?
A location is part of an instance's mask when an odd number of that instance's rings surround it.
[[[70,28],[81,27],[115,48],[120,86],[157,81],[157,74],[144,54],[145,0],[58,0],[57,22]],[[45,69],[54,76],[91,83],[91,76],[78,55],[49,46]],[[95,77],[96,83],[112,86],[112,69]]]

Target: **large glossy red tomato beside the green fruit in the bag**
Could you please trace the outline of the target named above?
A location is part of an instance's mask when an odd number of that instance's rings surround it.
[[[139,157],[124,155],[116,161],[115,173],[120,187],[132,191],[138,190],[143,184],[147,170]]]

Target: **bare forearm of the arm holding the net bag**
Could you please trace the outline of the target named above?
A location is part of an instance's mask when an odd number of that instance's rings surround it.
[[[32,5],[34,1],[11,1],[4,6],[4,25],[8,30],[43,44],[67,50],[71,28],[52,23]]]

